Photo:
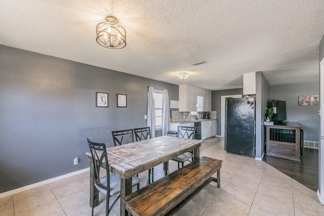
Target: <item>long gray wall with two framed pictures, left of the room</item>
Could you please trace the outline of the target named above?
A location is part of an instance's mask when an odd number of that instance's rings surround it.
[[[179,100],[175,84],[0,46],[0,193],[89,167],[87,138],[109,147],[111,131],[146,126],[148,86]]]

